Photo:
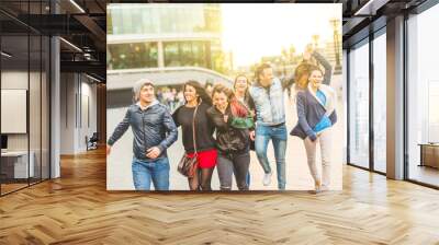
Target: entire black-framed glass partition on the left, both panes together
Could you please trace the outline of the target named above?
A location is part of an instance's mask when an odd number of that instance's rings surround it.
[[[42,4],[47,2],[23,2],[23,14],[41,14]],[[0,19],[14,23],[1,13]],[[48,36],[29,28],[3,26],[0,32],[0,121],[7,151],[0,158],[0,195],[49,178],[49,48]],[[12,110],[11,104],[16,106]]]

